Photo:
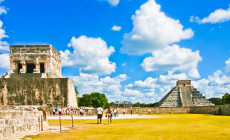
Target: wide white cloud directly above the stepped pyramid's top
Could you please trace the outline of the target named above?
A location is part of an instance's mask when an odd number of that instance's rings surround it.
[[[193,52],[191,49],[172,45],[154,51],[151,57],[144,59],[141,66],[147,72],[187,72],[190,78],[199,78],[197,65],[201,60],[199,51]]]

